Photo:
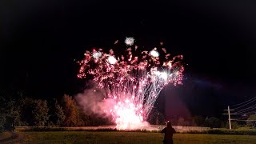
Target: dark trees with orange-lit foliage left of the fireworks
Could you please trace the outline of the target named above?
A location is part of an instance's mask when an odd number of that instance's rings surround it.
[[[0,131],[12,130],[14,126],[110,124],[107,118],[101,118],[96,114],[86,114],[74,98],[67,94],[60,99],[43,100],[27,98],[22,92],[13,93],[1,90],[0,102]]]

